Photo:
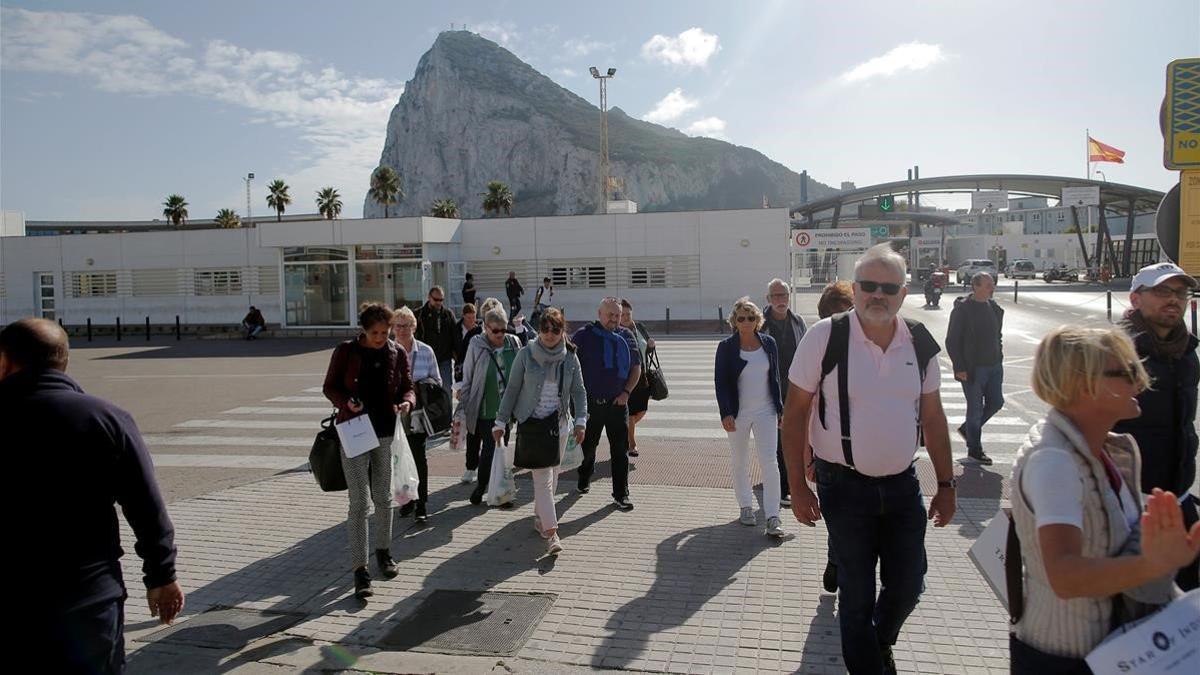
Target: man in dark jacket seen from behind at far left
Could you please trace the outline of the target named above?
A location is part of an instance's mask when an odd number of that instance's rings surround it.
[[[175,530],[133,418],[83,393],[67,376],[67,335],[25,318],[0,330],[0,419],[13,477],[41,476],[41,498],[13,519],[10,538],[37,560],[37,580],[16,583],[18,621],[42,673],[125,669],[125,581],[120,506],[142,557],[150,614],[164,623],[184,609],[175,581]],[[48,491],[47,491],[48,490]],[[18,667],[19,670],[19,667]]]

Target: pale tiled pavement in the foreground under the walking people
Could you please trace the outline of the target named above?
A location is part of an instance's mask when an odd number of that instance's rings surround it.
[[[307,473],[176,502],[179,578],[188,593],[176,638],[211,608],[294,613],[299,622],[258,639],[228,627],[235,646],[224,649],[148,643],[162,627],[134,581],[130,673],[844,671],[835,598],[820,583],[823,526],[785,514],[793,534],[772,542],[761,514],[757,527],[737,522],[728,489],[635,484],[637,508],[618,513],[607,480],[588,495],[563,483],[565,551],[553,560],[542,557],[532,527],[526,476],[515,509],[472,506],[467,486],[431,477],[430,522],[397,518],[401,575],[377,580],[367,605],[350,597],[346,495],[322,494]],[[901,671],[1007,671],[1007,616],[966,556],[998,503],[962,498],[949,527],[929,528],[928,590],[896,645]],[[132,549],[127,528],[122,537]],[[124,562],[126,578],[139,579],[132,551]],[[376,647],[439,589],[556,597],[516,657]]]

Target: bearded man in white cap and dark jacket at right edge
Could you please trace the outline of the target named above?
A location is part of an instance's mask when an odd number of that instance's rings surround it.
[[[1188,297],[1196,280],[1172,263],[1141,268],[1129,292],[1132,309],[1121,327],[1133,338],[1151,377],[1151,388],[1138,395],[1141,416],[1112,429],[1132,434],[1141,450],[1141,490],[1154,488],[1184,495],[1196,477],[1196,386],[1200,358],[1196,338],[1183,324]],[[1196,518],[1194,497],[1184,504],[1184,520]],[[1190,518],[1189,518],[1190,516]],[[1196,562],[1180,571],[1180,587],[1196,587]]]

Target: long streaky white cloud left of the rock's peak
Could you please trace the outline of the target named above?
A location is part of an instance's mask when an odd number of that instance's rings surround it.
[[[280,178],[292,185],[298,210],[308,210],[307,196],[325,185],[337,186],[350,208],[361,202],[403,91],[402,83],[313,66],[290,52],[222,40],[196,47],[142,17],[0,12],[5,70],[76,76],[114,94],[218,101],[248,110],[247,124],[296,130],[306,144]]]

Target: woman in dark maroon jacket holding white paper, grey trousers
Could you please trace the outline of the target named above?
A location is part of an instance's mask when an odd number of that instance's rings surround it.
[[[388,579],[397,574],[390,550],[391,440],[396,416],[410,411],[416,396],[408,357],[400,345],[388,339],[392,311],[386,305],[364,305],[359,313],[362,333],[334,350],[322,388],[325,398],[337,407],[338,424],[365,414],[379,442],[374,449],[355,456],[346,456],[346,448],[342,452],[342,468],[350,497],[346,527],[350,539],[354,596],[359,599],[373,595],[367,571],[370,502],[374,502],[371,540],[379,573]]]

